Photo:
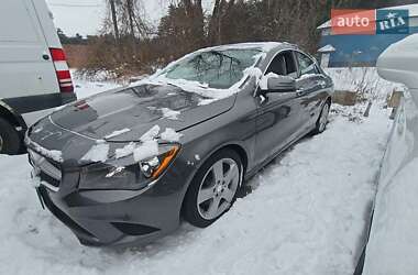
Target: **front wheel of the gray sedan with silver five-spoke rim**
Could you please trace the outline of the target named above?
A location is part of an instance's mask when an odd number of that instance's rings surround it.
[[[222,217],[237,200],[242,175],[242,161],[237,152],[222,150],[215,153],[199,168],[186,193],[183,204],[185,220],[206,228]]]

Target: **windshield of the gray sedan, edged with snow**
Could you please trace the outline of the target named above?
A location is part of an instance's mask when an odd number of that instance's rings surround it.
[[[161,76],[229,89],[243,78],[244,70],[254,65],[260,53],[257,48],[199,52],[169,66]]]

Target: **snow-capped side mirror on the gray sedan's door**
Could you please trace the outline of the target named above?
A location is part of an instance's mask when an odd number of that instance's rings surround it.
[[[264,92],[293,92],[296,91],[296,80],[290,76],[270,73],[262,77],[260,88]]]

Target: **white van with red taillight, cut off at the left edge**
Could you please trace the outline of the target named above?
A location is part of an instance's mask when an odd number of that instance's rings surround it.
[[[40,110],[74,101],[68,65],[45,0],[1,0],[0,153],[16,154]]]

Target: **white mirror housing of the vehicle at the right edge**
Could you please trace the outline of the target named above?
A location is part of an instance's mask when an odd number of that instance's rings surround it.
[[[377,59],[378,75],[418,89],[418,34],[393,44]]]

